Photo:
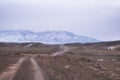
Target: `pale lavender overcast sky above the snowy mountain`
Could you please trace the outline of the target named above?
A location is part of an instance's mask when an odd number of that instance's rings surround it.
[[[19,29],[120,40],[120,0],[0,0],[0,30]]]

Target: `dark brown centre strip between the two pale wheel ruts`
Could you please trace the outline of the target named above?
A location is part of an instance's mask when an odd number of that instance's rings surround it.
[[[29,56],[23,61],[13,80],[34,80],[33,67]]]

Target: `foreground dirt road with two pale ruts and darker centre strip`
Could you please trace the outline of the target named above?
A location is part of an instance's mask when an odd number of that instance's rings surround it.
[[[21,58],[0,75],[0,80],[45,80],[33,57]]]

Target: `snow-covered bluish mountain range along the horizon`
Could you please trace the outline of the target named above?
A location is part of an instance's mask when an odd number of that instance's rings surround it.
[[[32,32],[26,30],[0,31],[0,42],[42,42],[45,44],[98,42],[94,38],[67,31]]]

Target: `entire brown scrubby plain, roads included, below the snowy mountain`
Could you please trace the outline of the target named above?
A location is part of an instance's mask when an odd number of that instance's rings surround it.
[[[120,80],[120,42],[0,43],[0,80]]]

